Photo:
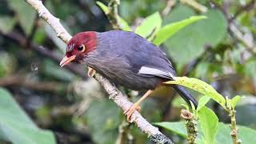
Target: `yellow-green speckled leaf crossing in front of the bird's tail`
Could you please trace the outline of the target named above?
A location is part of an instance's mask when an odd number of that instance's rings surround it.
[[[222,107],[225,107],[226,100],[222,94],[218,94],[216,90],[206,82],[203,82],[197,78],[187,78],[187,77],[175,77],[174,81],[166,82],[167,84],[176,84],[181,86],[186,86],[192,90],[196,90],[218,102]]]

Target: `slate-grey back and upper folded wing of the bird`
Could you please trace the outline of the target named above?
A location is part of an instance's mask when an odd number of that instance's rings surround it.
[[[130,69],[139,74],[142,66],[160,70],[165,74],[140,73],[141,76],[157,76],[170,79],[170,74],[176,75],[166,54],[158,47],[148,42],[138,34],[132,32],[112,30],[101,33],[102,39],[107,39],[107,46],[112,52],[126,58],[129,61]],[[99,38],[101,39],[101,38]],[[106,45],[106,43],[105,43]]]

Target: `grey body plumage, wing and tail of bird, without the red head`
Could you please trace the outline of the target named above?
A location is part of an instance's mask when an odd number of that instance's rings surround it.
[[[132,32],[112,30],[97,33],[97,48],[84,58],[90,66],[115,84],[131,90],[154,90],[176,75],[166,54],[145,38]],[[194,98],[175,86],[187,102]]]

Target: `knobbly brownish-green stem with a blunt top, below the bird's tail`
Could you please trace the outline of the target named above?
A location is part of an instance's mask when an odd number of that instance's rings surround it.
[[[182,110],[181,117],[186,120],[187,143],[195,144],[198,136],[197,121],[194,119],[194,114],[189,110]]]

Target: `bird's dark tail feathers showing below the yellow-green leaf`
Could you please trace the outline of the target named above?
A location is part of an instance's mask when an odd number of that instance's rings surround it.
[[[193,98],[188,90],[183,86],[174,85],[174,90],[182,96],[182,98],[190,105],[190,101],[193,102],[195,107],[198,107],[198,102]]]

